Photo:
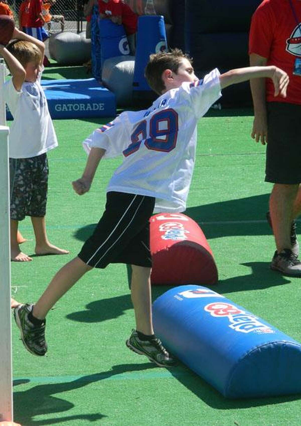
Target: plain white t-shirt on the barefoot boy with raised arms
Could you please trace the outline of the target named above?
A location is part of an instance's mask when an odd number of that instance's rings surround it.
[[[4,84],[4,97],[14,117],[9,131],[9,157],[30,158],[57,147],[57,137],[46,96],[40,85],[24,82],[18,92],[12,79]]]

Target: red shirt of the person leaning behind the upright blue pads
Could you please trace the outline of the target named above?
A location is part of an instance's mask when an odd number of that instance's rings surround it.
[[[126,34],[131,35],[137,31],[137,15],[132,9],[120,0],[109,0],[108,3],[98,0],[98,11],[108,16],[121,16]]]

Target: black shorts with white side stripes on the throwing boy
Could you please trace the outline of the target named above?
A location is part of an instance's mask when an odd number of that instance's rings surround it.
[[[155,198],[109,192],[106,209],[78,257],[94,268],[109,263],[152,267],[149,250],[149,218]]]

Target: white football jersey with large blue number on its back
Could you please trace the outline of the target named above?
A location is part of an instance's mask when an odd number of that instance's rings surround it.
[[[196,125],[221,96],[219,75],[214,69],[204,80],[185,82],[164,93],[149,109],[123,112],[83,142],[88,152],[92,147],[105,149],[103,158],[124,155],[108,192],[155,197],[155,212],[186,209],[195,165]]]

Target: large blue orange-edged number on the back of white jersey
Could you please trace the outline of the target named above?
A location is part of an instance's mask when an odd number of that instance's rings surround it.
[[[147,127],[149,126],[149,137]],[[135,153],[142,141],[149,150],[169,153],[175,148],[178,136],[178,113],[174,109],[164,109],[148,121],[140,121],[131,136],[132,143],[123,151],[127,157]]]

